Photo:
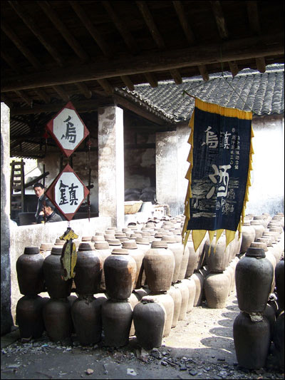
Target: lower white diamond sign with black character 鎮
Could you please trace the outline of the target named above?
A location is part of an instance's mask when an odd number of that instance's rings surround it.
[[[70,165],[66,165],[45,192],[45,195],[67,220],[73,218],[88,194],[88,188],[81,182]]]

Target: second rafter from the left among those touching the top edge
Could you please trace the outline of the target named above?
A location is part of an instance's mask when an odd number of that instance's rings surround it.
[[[43,9],[46,16],[48,16],[48,19],[51,20],[53,25],[58,29],[58,31],[61,33],[61,36],[66,40],[69,46],[73,49],[73,51],[77,54],[79,58],[81,58],[81,61],[88,61],[89,57],[88,54],[83,50],[81,45],[78,43],[76,38],[71,34],[70,31],[66,28],[66,26],[63,24],[61,19],[56,14],[56,11],[54,11],[51,7],[51,4],[48,3],[48,1],[37,1],[38,6]]]

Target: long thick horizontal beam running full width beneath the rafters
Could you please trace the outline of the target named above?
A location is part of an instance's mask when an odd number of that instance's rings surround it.
[[[216,44],[192,46],[175,51],[141,54],[140,56],[128,57],[128,59],[114,58],[112,61],[97,61],[87,65],[3,78],[1,92],[93,81],[149,71],[167,71],[172,68],[259,58],[268,55],[278,56],[284,54],[283,40],[284,34],[254,36],[224,41],[220,46]]]

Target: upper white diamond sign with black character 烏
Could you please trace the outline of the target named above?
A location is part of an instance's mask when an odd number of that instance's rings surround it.
[[[46,128],[66,157],[89,135],[86,125],[71,102],[47,123]]]

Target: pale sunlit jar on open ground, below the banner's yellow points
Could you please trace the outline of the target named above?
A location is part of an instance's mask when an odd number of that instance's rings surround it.
[[[210,273],[204,279],[204,292],[207,307],[210,309],[222,309],[226,306],[229,294],[229,277],[225,273]]]

